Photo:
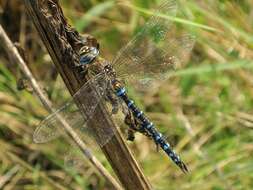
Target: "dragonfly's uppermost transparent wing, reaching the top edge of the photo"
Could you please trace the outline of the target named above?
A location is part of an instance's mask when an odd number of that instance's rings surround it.
[[[113,60],[114,68],[120,73],[127,71],[125,68],[136,68],[152,53],[153,47],[147,47],[147,41],[162,41],[170,28],[171,21],[161,18],[161,15],[174,17],[177,12],[176,0],[164,0],[154,12],[153,16],[145,23],[142,29],[123,47]],[[131,73],[131,72],[129,72]]]

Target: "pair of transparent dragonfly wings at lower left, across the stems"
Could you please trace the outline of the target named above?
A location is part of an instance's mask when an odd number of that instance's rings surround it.
[[[95,135],[90,125],[94,125],[91,123],[91,118],[94,114],[98,114],[96,107],[103,99],[107,87],[108,80],[104,73],[89,80],[71,101],[40,123],[34,132],[34,141],[48,142],[59,135],[66,134],[67,130],[68,134],[78,134],[84,141],[99,138],[99,145],[103,146],[113,136],[113,131],[103,126],[96,127]]]

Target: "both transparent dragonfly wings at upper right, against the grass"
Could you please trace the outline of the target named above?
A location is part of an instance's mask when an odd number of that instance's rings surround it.
[[[171,22],[162,18],[175,16],[176,10],[176,1],[165,0],[143,29],[122,48],[112,63],[119,77],[162,79],[171,68],[187,61],[194,37],[187,34],[176,37]]]

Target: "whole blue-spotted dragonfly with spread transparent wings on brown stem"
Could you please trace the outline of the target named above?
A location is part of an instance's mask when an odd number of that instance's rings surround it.
[[[109,101],[114,110],[112,115],[118,113],[121,107],[126,118],[132,121],[122,122],[128,123],[132,130],[151,138],[183,172],[188,172],[186,164],[168,140],[129,97],[126,90],[126,86],[130,84],[141,84],[149,88],[154,82],[166,80],[173,68],[183,65],[189,59],[195,38],[187,33],[172,35],[173,22],[168,18],[175,17],[176,13],[176,0],[164,0],[116,57],[111,62],[101,61],[99,67],[95,64],[95,60],[99,59],[98,47],[83,46],[79,52],[79,67],[84,71],[88,70],[92,77],[68,103],[40,123],[34,133],[35,142],[48,142],[62,134],[61,124],[57,119],[59,115],[72,128],[78,129],[80,134],[85,136],[84,139],[93,138],[88,125],[98,105],[103,101]],[[73,109],[80,99],[88,101]],[[96,134],[99,136],[96,141],[103,147],[113,135],[114,131],[101,127],[99,135]]]

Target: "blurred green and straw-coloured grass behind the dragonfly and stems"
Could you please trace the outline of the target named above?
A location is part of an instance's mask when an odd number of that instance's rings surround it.
[[[60,0],[79,32],[95,36],[112,58],[152,10],[154,0]],[[137,135],[129,146],[154,189],[253,188],[253,1],[178,0],[176,24],[196,36],[191,59],[140,105],[170,137],[189,166],[184,175],[154,144]],[[55,105],[68,94],[25,14],[21,0],[0,1],[1,24]],[[1,44],[1,43],[0,43]],[[0,45],[1,46],[1,45]],[[64,96],[63,96],[64,94]],[[47,112],[0,47],[0,189],[109,189],[88,162],[64,167],[65,142],[35,144],[32,134]],[[112,171],[101,154],[97,157]]]

